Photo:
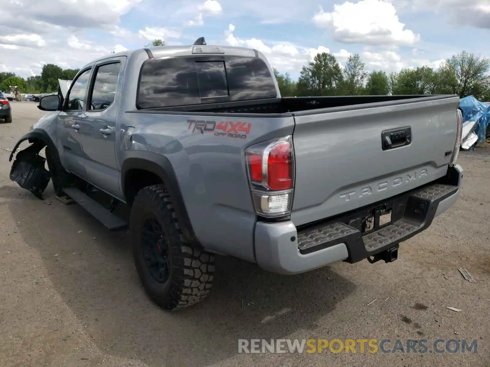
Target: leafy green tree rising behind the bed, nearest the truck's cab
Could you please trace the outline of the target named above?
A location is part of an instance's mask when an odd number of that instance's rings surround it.
[[[301,69],[297,86],[298,96],[336,95],[343,75],[335,56],[323,52]]]

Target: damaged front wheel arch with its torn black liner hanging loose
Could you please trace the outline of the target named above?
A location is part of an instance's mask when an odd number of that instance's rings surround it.
[[[10,180],[29,190],[37,198],[42,199],[42,194],[49,184],[51,174],[45,168],[46,159],[41,157],[39,152],[47,147],[55,164],[61,165],[61,161],[48,133],[41,129],[34,129],[20,138],[10,154],[9,161],[12,161],[15,152],[25,140],[28,140],[30,145],[17,153],[10,169]]]

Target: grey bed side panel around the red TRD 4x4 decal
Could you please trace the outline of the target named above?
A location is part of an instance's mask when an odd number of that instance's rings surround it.
[[[204,132],[192,121],[250,124],[245,138]],[[214,123],[214,124],[213,124]],[[245,169],[245,148],[256,142],[293,134],[293,117],[126,113],[124,126],[134,126],[130,150],[164,155],[173,166],[199,242],[207,249],[255,261],[255,212]],[[122,154],[127,152],[120,150]],[[124,160],[124,158],[123,158]]]

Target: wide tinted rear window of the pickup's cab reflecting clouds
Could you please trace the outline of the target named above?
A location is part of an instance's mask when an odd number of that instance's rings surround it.
[[[272,75],[259,58],[176,57],[145,62],[137,105],[157,108],[275,97]]]

